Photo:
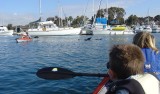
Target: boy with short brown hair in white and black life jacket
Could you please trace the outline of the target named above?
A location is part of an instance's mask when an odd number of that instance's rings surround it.
[[[111,83],[106,94],[160,94],[159,80],[144,73],[144,57],[134,44],[114,45],[107,63]]]

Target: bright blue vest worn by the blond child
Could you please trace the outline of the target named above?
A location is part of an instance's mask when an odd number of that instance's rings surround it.
[[[142,48],[145,58],[144,72],[155,73],[160,79],[160,52],[156,53],[151,48]]]

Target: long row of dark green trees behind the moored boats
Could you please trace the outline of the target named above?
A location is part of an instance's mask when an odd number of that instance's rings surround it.
[[[126,24],[126,25],[137,25],[137,24],[151,24],[155,22],[156,24],[160,25],[160,15],[156,15],[155,17],[146,16],[146,17],[137,17],[136,15],[130,15],[127,19],[124,19],[126,12],[123,8],[119,7],[110,7],[107,9],[100,9],[97,11],[97,14],[92,16],[91,19],[82,15],[73,18],[72,16],[65,17],[65,19],[61,19],[58,16],[49,17],[47,20],[52,20],[58,26],[72,26],[72,27],[79,27],[83,26],[86,22],[93,23],[94,18],[96,17],[107,17],[109,25],[115,24]]]

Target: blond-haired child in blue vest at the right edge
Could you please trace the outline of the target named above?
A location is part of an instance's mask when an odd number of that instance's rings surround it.
[[[160,79],[160,53],[155,45],[155,38],[149,32],[139,32],[133,38],[133,44],[143,52],[144,72],[152,72]]]

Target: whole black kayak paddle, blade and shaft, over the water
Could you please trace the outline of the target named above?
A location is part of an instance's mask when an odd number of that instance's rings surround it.
[[[46,80],[59,80],[73,78],[75,76],[92,76],[92,77],[106,77],[108,74],[95,73],[76,73],[71,70],[59,67],[46,67],[37,71],[36,75]]]

